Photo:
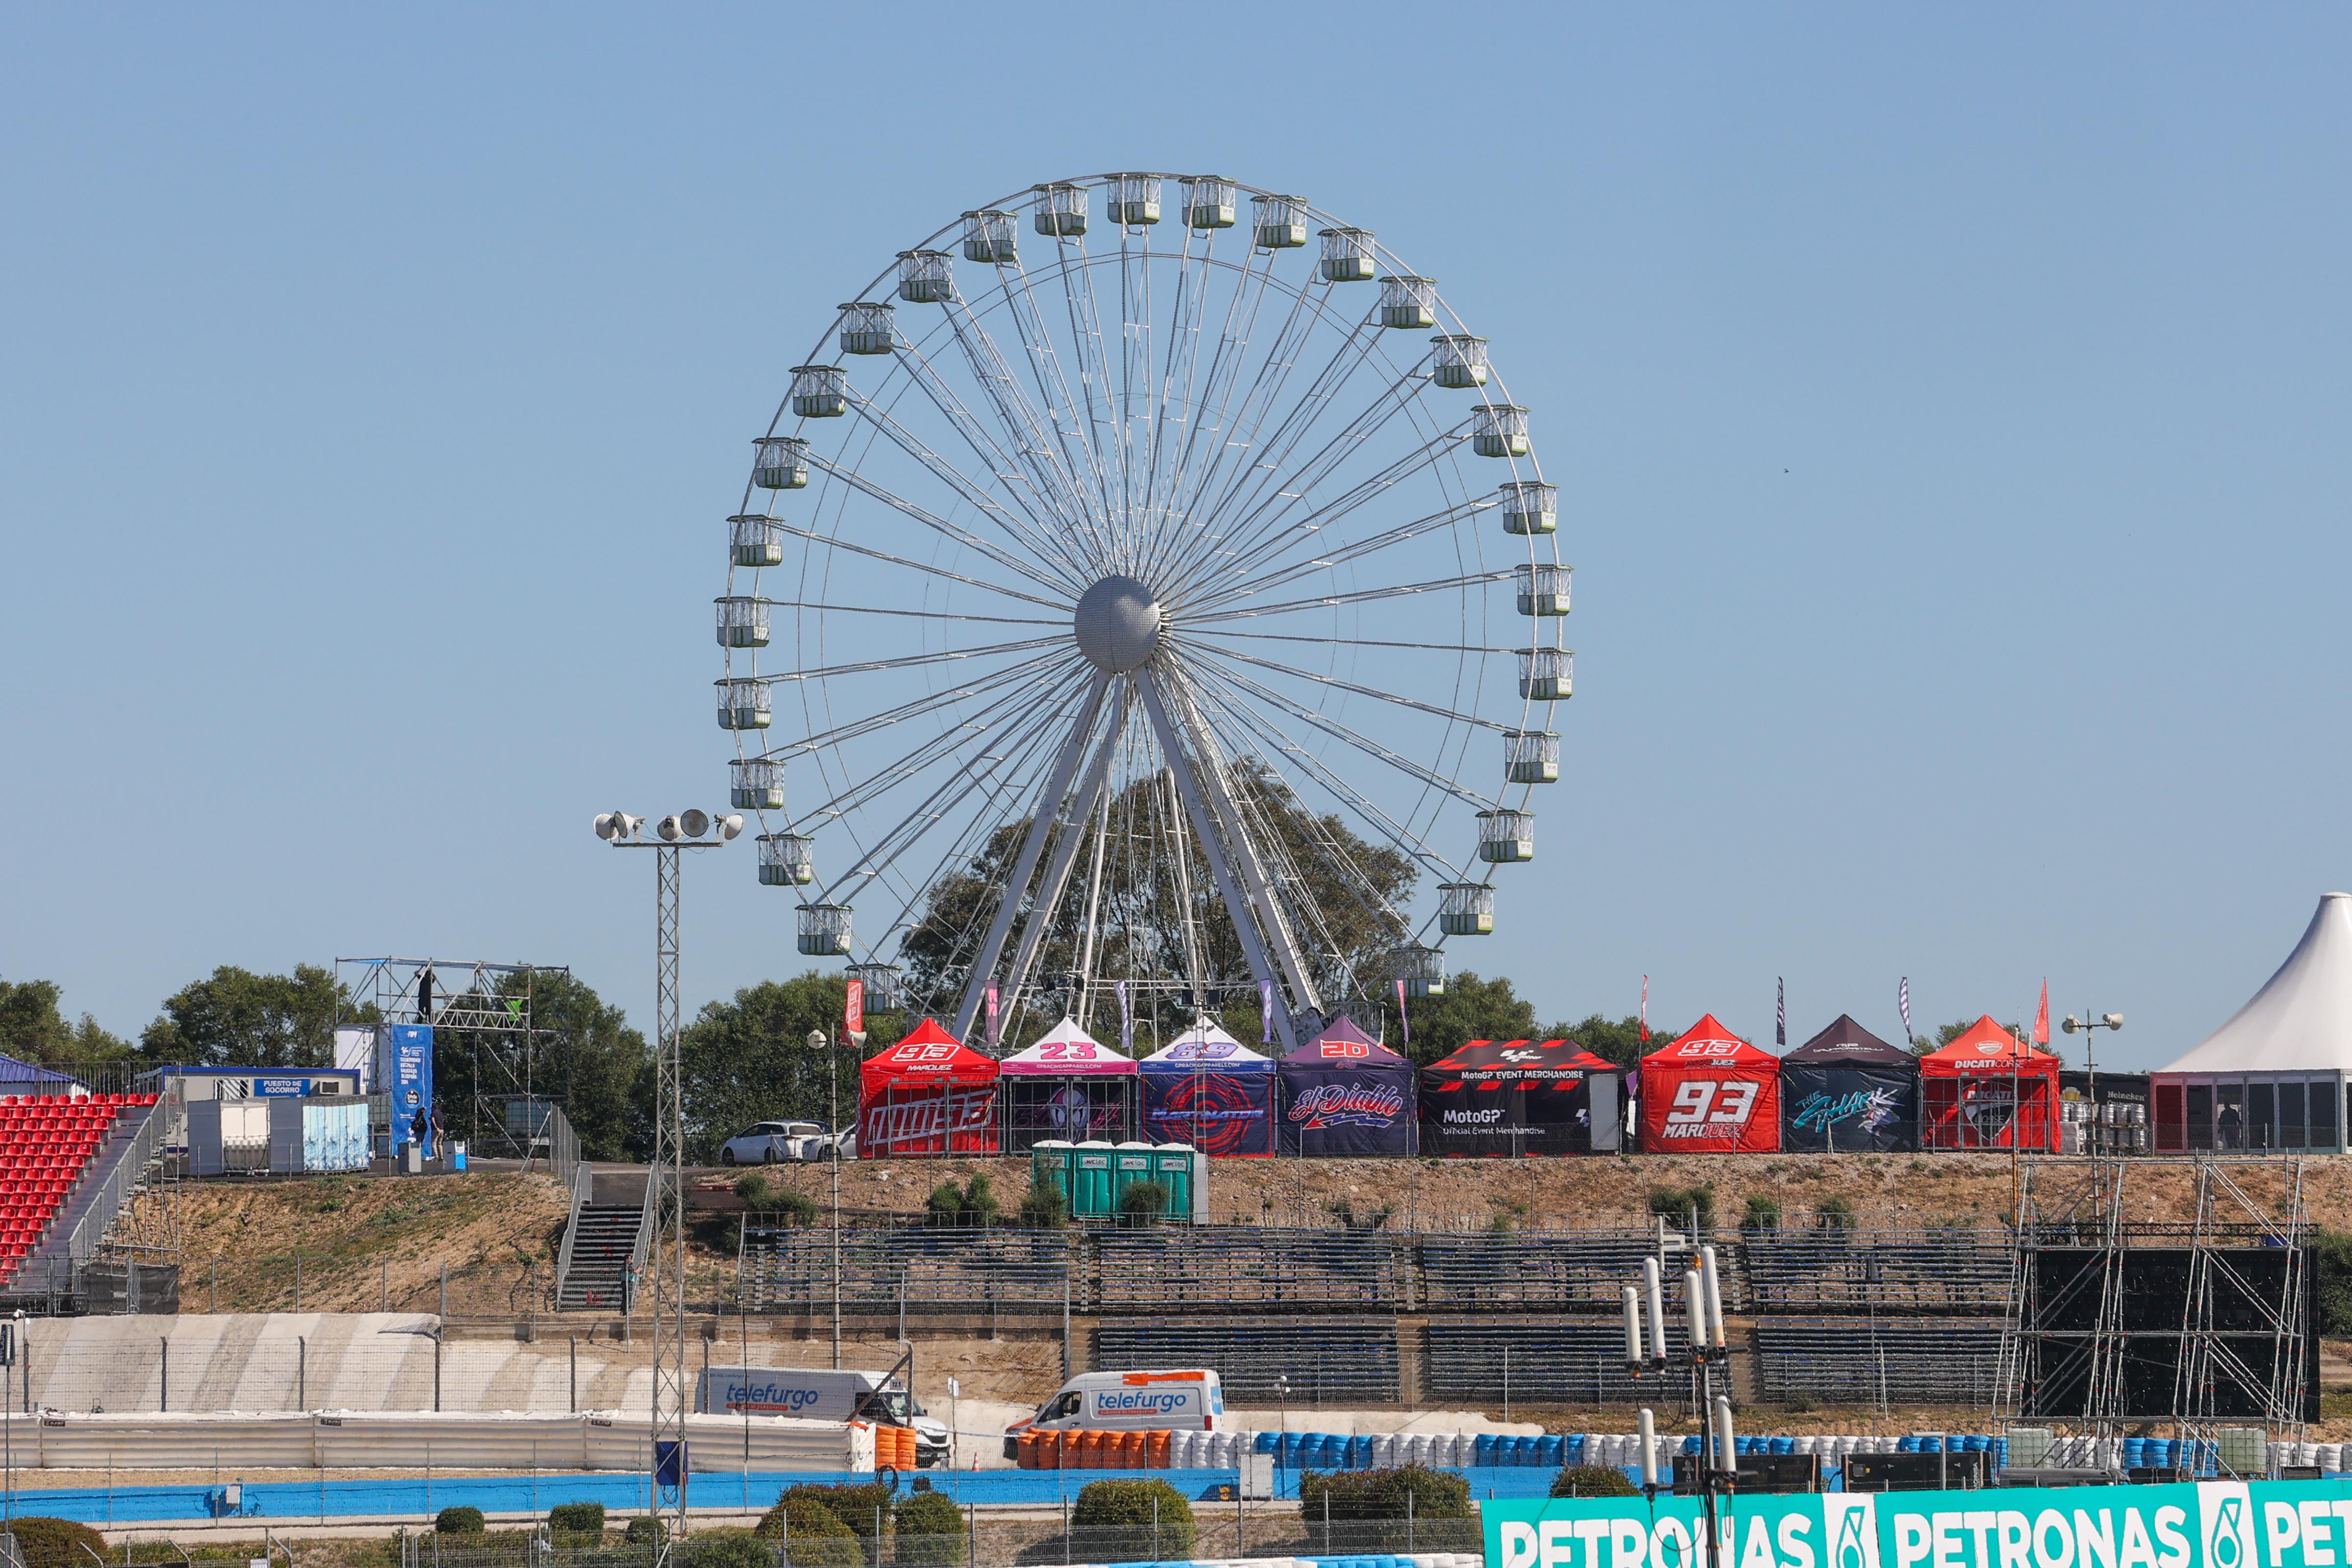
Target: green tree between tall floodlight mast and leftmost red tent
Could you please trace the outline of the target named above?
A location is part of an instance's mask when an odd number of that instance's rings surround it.
[[[840,1121],[856,1117],[858,1048],[842,1041],[840,973],[807,971],[790,980],[762,980],[727,1001],[706,1001],[680,1030],[677,1070],[687,1100],[687,1152],[715,1159],[717,1147],[753,1121]],[[823,1030],[826,1048],[809,1048],[809,1032]],[[906,1032],[903,1016],[866,1016],[866,1053]],[[830,1084],[830,1088],[828,1088]],[[647,1074],[652,1098],[652,1074]],[[840,1128],[835,1128],[840,1131]]]

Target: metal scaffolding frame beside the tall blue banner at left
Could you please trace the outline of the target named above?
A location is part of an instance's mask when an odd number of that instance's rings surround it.
[[[564,1037],[560,1023],[536,1018],[541,980],[572,978],[564,964],[489,964],[485,959],[336,959],[336,1027],[433,1027],[435,1100],[463,1110],[475,1159],[532,1159],[546,1152],[548,1110],[564,1103],[569,1084],[555,1072]],[[442,1039],[442,1030],[449,1039]],[[449,1065],[463,1063],[463,1105],[452,1105]]]

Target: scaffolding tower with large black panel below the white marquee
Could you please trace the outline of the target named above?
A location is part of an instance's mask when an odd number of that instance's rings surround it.
[[[2169,1425],[2204,1455],[2223,1427],[2300,1441],[2319,1352],[2303,1161],[2192,1161],[2185,1222],[2129,1218],[2136,1164],[2018,1171],[1997,1415],[2098,1439]]]

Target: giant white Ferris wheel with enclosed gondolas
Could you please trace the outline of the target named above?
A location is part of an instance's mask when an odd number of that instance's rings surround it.
[[[1303,1044],[1444,990],[1536,853],[1557,487],[1369,228],[1218,176],[964,212],[837,306],[729,520],[760,882],[870,1006]]]

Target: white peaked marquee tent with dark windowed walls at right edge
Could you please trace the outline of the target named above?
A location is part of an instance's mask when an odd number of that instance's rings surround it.
[[[2326,893],[2253,1001],[2150,1079],[2159,1154],[2343,1150],[2352,893]]]

